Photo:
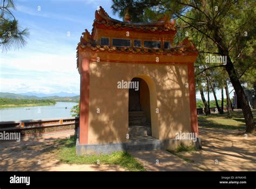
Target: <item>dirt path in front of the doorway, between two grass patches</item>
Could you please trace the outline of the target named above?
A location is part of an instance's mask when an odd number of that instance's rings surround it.
[[[147,171],[201,171],[192,164],[164,150],[133,151],[129,153],[140,161]]]

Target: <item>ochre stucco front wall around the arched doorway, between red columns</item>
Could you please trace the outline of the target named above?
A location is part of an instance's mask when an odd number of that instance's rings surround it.
[[[90,62],[88,144],[127,141],[129,90],[118,89],[117,82],[134,77],[149,86],[153,137],[191,132],[186,65]]]

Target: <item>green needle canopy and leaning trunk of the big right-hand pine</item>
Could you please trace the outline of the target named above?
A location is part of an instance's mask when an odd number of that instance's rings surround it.
[[[246,132],[255,132],[253,115],[241,84],[256,82],[255,1],[170,1],[113,0],[112,9],[124,16],[128,9],[132,22],[151,22],[164,17],[176,19],[176,42],[189,37],[199,50],[197,76],[206,76],[219,88],[234,87],[246,122]],[[222,56],[226,62],[207,62],[207,56]],[[204,81],[205,82],[205,81]]]

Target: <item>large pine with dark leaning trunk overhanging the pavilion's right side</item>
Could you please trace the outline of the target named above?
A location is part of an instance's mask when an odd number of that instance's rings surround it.
[[[123,10],[129,9],[133,22],[154,21],[164,14],[169,14],[183,23],[180,25],[180,30],[190,31],[194,35],[200,33],[202,38],[210,40],[217,49],[210,53],[226,57],[226,63],[208,67],[207,70],[215,68],[226,70],[241,104],[246,132],[255,133],[253,114],[239,80],[241,75],[245,74],[243,72],[250,68],[252,60],[255,60],[254,56],[248,62],[245,61],[246,56],[252,55],[253,45],[255,45],[255,5],[255,1],[231,0],[113,0],[112,8],[113,12],[118,12],[120,16],[123,16]],[[198,49],[200,53],[205,53]]]

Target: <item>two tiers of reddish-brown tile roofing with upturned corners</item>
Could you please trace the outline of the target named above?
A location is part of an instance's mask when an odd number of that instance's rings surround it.
[[[152,27],[158,31],[160,30],[175,30],[176,27],[173,23],[169,23],[170,25],[167,26],[166,22],[158,22],[158,23],[128,23],[128,22],[120,22],[116,19],[112,19],[107,15],[107,13],[104,11],[103,8],[100,6],[100,10],[96,11],[96,20],[93,23],[93,26],[95,26],[95,23],[101,23],[106,26],[112,26],[115,27],[131,27],[133,29],[140,29],[144,30],[145,27],[147,29],[151,30],[153,32]],[[156,26],[158,24],[158,26]],[[169,27],[169,28],[166,28]],[[93,30],[92,30],[93,32]],[[137,47],[117,47],[117,46],[110,46],[110,45],[100,45],[99,42],[96,40],[93,40],[93,36],[90,34],[89,31],[85,30],[85,32],[82,33],[83,36],[80,37],[80,42],[77,46],[77,57],[79,53],[79,49],[82,49],[83,51],[92,50],[92,51],[98,51],[98,52],[120,52],[120,53],[134,53],[134,54],[156,54],[156,55],[188,55],[188,53],[191,52],[198,52],[196,49],[196,46],[188,39],[185,38],[183,42],[179,43],[176,47],[171,49],[155,49],[155,48],[137,48]],[[79,48],[80,47],[80,48]],[[78,61],[78,60],[77,60]],[[78,62],[77,62],[78,66]]]

